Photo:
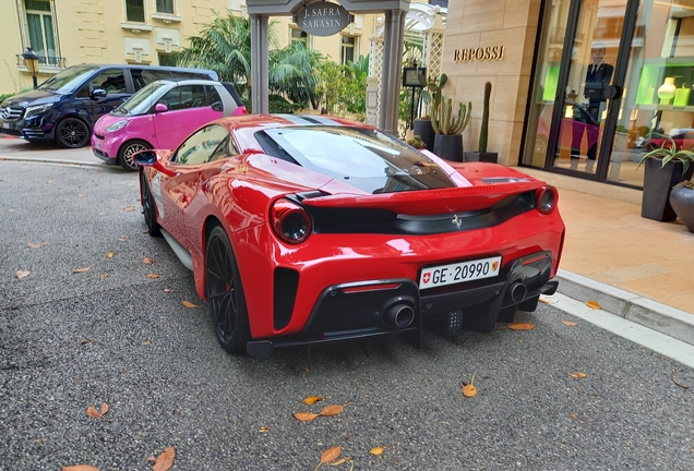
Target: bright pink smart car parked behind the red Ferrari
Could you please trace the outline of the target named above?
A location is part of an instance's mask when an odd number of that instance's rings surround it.
[[[136,171],[133,155],[140,150],[176,148],[201,125],[246,112],[234,84],[156,81],[99,118],[92,133],[92,150],[109,164]]]

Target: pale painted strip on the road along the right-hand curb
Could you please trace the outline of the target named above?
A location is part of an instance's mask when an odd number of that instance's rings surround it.
[[[565,313],[581,317],[593,325],[671,358],[686,366],[694,367],[694,347],[689,343],[606,311],[590,309],[585,303],[561,293],[543,297],[543,299]]]

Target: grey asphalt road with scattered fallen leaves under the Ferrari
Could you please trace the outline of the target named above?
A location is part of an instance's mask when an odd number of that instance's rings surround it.
[[[531,330],[256,360],[216,343],[134,174],[0,161],[0,470],[151,470],[166,447],[174,470],[313,470],[334,446],[360,470],[694,469],[694,371],[551,305]],[[292,418],[325,404],[348,406]]]

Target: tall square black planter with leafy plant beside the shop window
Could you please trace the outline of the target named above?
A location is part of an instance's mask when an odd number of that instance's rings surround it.
[[[646,159],[644,171],[644,193],[641,204],[641,216],[659,221],[673,221],[678,218],[670,206],[672,186],[692,178],[694,166],[690,166],[682,174],[682,162],[669,161],[663,168],[662,159]]]

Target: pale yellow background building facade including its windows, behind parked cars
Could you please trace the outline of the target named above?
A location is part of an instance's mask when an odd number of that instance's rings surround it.
[[[64,67],[83,63],[174,65],[176,53],[229,9],[246,15],[243,0],[2,0],[5,46],[0,51],[0,95],[32,87],[21,55],[39,56],[38,82]],[[340,34],[312,37],[291,17],[272,19],[283,45],[304,40],[336,62],[369,55],[375,15],[356,15]]]

